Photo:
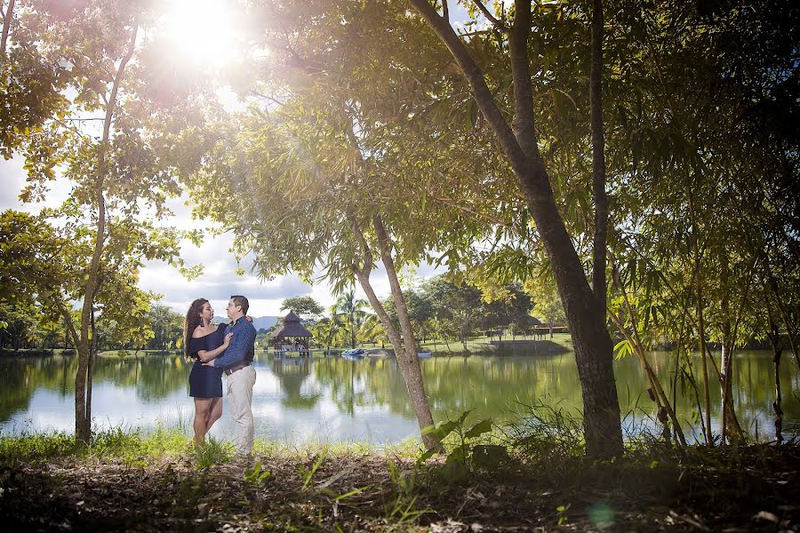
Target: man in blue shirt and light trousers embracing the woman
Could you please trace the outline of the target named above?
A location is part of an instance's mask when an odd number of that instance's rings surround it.
[[[244,296],[231,296],[228,301],[228,318],[233,321],[225,334],[233,332],[228,348],[216,359],[207,362],[225,370],[228,383],[228,410],[236,422],[234,447],[236,457],[247,457],[252,453],[254,426],[252,422],[252,386],[255,385],[255,369],[252,359],[255,354],[256,330],[245,315],[250,302]]]

